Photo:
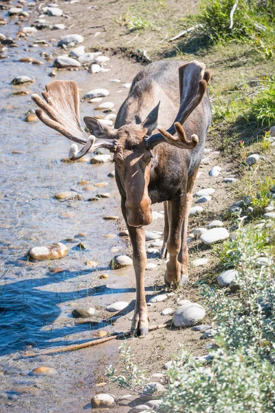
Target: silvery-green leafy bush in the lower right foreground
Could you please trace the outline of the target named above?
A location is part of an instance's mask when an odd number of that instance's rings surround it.
[[[266,244],[268,232],[274,233],[269,226],[259,231],[259,242],[254,242],[251,229],[240,227],[236,231],[231,266],[239,271],[235,280],[239,293],[210,286],[203,290],[218,331],[210,350],[211,364],[205,366],[181,350],[168,370],[167,392],[159,412],[274,412],[275,268],[270,257],[266,265],[259,265],[263,240]],[[134,374],[133,387],[131,371],[138,368],[129,357],[130,349],[124,343],[122,359],[126,364],[122,374],[117,375],[110,366],[107,375],[121,387],[139,392],[144,374],[140,381]]]

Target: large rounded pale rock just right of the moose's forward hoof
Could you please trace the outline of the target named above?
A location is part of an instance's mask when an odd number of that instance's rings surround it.
[[[206,311],[197,303],[188,303],[175,310],[173,324],[175,327],[194,326],[205,317]]]

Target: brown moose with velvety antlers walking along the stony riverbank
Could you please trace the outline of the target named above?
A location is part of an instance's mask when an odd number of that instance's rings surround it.
[[[113,153],[122,214],[133,246],[137,294],[132,335],[148,334],[145,226],[152,220],[151,204],[164,202],[165,284],[175,289],[188,281],[188,215],[211,122],[206,92],[210,77],[198,61],[151,63],[133,79],[114,128],[85,116],[89,136],[80,125],[76,82],[52,81],[42,92],[44,99],[32,95],[39,106],[36,115],[45,125],[84,145],[79,151],[72,145],[71,160],[100,147]]]

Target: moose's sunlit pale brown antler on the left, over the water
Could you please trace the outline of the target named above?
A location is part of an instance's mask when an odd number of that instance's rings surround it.
[[[93,152],[100,147],[112,150],[115,139],[100,139],[88,136],[80,124],[78,86],[74,81],[52,81],[45,86],[42,96],[33,94],[32,100],[39,108],[37,117],[45,125],[60,132],[66,138],[85,145],[80,151],[76,144],[69,149],[69,159],[77,160],[86,153]]]

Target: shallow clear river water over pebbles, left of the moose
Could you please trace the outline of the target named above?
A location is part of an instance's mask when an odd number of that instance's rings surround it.
[[[5,10],[1,17],[7,18]],[[0,31],[15,38],[19,30],[15,21],[17,19],[9,19]],[[82,412],[85,405],[89,408],[91,386],[102,381],[97,377],[98,360],[104,357],[108,364],[116,357],[117,346],[56,357],[32,358],[23,354],[30,349],[82,343],[92,339],[97,329],[111,330],[113,327],[104,323],[76,325],[72,310],[81,306],[101,308],[127,297],[133,303],[134,279],[132,270],[113,275],[108,268],[115,255],[111,248],[121,246],[122,251],[127,252],[117,235],[117,224],[102,219],[104,215],[121,216],[118,191],[113,178],[108,177],[113,165],[62,162],[67,156],[69,141],[40,121],[24,121],[28,110],[35,109],[30,95],[40,93],[51,81],[48,74],[52,62],[45,61],[40,54],[51,54],[54,46],[29,47],[32,43],[32,38],[17,40],[19,47],[8,47],[7,57],[0,63],[0,411],[76,413]],[[33,56],[44,64],[19,62],[25,56]],[[12,86],[12,79],[21,75],[36,81]],[[83,96],[96,87],[91,76],[82,70],[59,71],[56,78],[77,81]],[[121,103],[127,92],[116,94],[120,87],[110,83],[111,77],[115,77],[115,73],[105,75],[105,80],[99,76],[100,87],[108,86],[115,95],[109,100]],[[14,95],[19,90],[29,94]],[[82,116],[92,115],[91,107],[87,102],[81,103]],[[88,180],[91,185],[106,182],[107,187],[85,191],[80,180]],[[61,202],[54,198],[54,194],[69,190],[76,191],[83,199]],[[87,201],[92,195],[106,191],[111,198]],[[79,233],[87,235],[80,237]],[[110,233],[113,237],[106,237]],[[87,243],[87,249],[78,248],[80,241]],[[26,260],[25,255],[32,246],[54,242],[66,244],[67,257],[50,262]],[[98,262],[98,266],[89,268],[85,264],[89,260]],[[58,268],[58,272],[52,268]],[[108,281],[99,278],[102,273],[109,275]],[[129,295],[125,297],[125,293]],[[56,374],[36,377],[32,369],[39,366],[53,367]]]

